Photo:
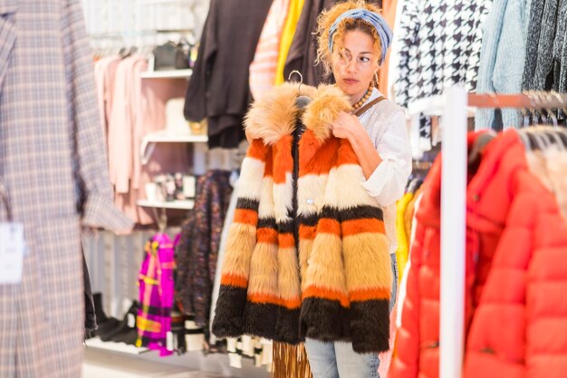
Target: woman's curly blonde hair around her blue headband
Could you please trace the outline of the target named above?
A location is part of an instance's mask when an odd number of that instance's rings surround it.
[[[372,37],[374,42],[374,53],[378,57],[382,53],[382,44],[378,32],[371,24],[360,19],[345,18],[338,25],[336,33],[333,35],[333,51],[329,50],[329,31],[335,20],[343,13],[356,8],[366,8],[370,12],[381,15],[378,6],[367,3],[363,0],[348,0],[332,6],[331,9],[323,11],[317,19],[317,64],[322,64],[325,74],[332,73],[332,53],[341,51],[343,46],[344,34],[351,30],[360,30]],[[380,58],[377,58],[380,59]]]

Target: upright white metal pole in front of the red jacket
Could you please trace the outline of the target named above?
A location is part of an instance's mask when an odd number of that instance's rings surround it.
[[[440,378],[460,378],[463,365],[466,248],[466,91],[445,92],[441,179]]]

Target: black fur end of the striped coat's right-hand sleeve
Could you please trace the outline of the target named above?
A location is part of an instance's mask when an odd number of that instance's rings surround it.
[[[352,349],[380,353],[389,349],[389,301],[351,302]]]

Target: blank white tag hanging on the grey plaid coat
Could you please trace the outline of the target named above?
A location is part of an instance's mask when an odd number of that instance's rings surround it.
[[[0,285],[22,282],[24,253],[24,225],[0,223]]]

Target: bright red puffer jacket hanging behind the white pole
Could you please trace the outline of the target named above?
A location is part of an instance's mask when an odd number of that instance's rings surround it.
[[[418,209],[390,378],[438,376],[440,175],[437,160]],[[469,173],[466,208],[466,378],[563,376],[567,226],[515,131],[491,141]]]

